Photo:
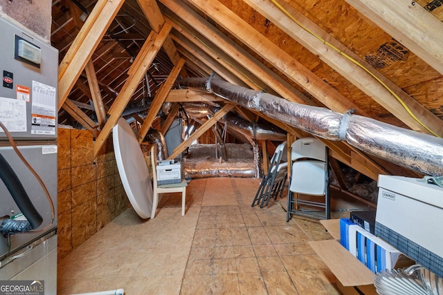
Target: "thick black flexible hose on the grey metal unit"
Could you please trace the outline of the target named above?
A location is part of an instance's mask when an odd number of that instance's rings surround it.
[[[0,153],[0,178],[6,185],[15,203],[21,210],[21,213],[28,219],[32,229],[37,229],[42,225],[43,218],[35,209],[33,202],[30,201],[28,193],[26,193],[23,185],[21,184],[17,174],[15,174],[12,167],[6,161],[6,159]]]

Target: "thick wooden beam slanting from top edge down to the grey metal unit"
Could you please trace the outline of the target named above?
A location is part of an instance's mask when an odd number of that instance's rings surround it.
[[[125,1],[99,0],[75,37],[58,67],[58,110],[64,104],[123,2]]]

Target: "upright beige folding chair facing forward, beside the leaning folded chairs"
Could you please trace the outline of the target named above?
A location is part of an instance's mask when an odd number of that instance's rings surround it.
[[[327,146],[314,137],[301,138],[291,145],[287,221],[292,215],[331,217],[327,153]],[[307,196],[298,198],[296,194]],[[318,196],[324,196],[324,200],[319,201]]]

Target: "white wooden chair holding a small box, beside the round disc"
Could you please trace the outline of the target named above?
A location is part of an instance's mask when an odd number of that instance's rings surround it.
[[[161,193],[181,193],[181,216],[185,215],[186,206],[186,187],[188,182],[182,180],[180,183],[174,184],[157,184],[157,158],[156,158],[156,146],[151,147],[151,164],[152,164],[152,188],[154,190],[154,198],[152,202],[151,219],[154,218],[157,205],[159,204],[159,195]]]

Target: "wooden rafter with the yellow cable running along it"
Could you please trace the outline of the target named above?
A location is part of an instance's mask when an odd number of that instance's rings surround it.
[[[440,137],[443,136],[443,124],[440,118],[433,115],[431,111],[428,111],[413,97],[410,97],[401,88],[390,82],[390,80],[372,68],[370,64],[332,38],[316,23],[298,12],[298,10],[281,0],[279,1],[281,9],[277,8],[271,1],[244,0],[244,2],[248,3],[249,6],[257,10],[266,19],[275,23],[282,31],[298,41],[311,53],[325,61],[337,73],[340,73],[354,86],[372,97],[375,102],[386,108],[387,111],[404,122],[410,129],[430,134],[431,132],[419,123],[422,122],[428,129],[433,130]],[[296,19],[300,26],[293,19]],[[443,29],[443,25],[441,27]],[[409,110],[402,106],[399,99],[405,102]],[[410,115],[409,111],[417,117],[417,120]]]

